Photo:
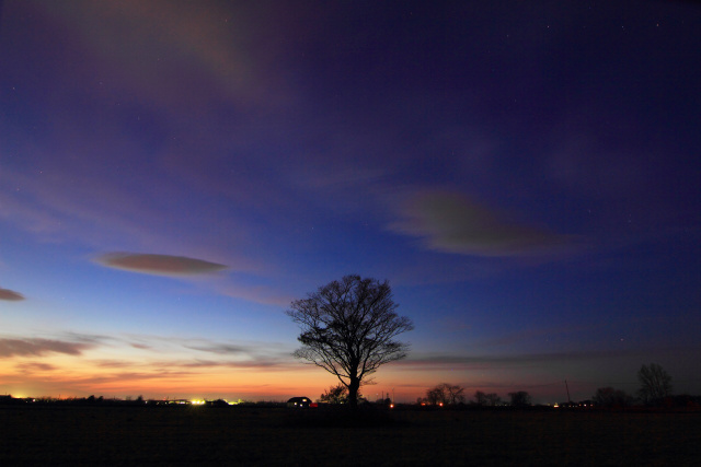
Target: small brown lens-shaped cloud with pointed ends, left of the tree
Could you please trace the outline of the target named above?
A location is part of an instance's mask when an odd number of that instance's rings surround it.
[[[139,253],[108,253],[95,261],[108,268],[157,276],[194,276],[227,269],[203,259]]]

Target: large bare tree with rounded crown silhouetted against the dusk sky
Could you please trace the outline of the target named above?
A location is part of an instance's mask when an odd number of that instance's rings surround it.
[[[406,357],[409,345],[394,338],[414,326],[397,307],[387,281],[345,276],[330,282],[287,311],[301,328],[295,357],[335,375],[355,408],[360,384],[380,365]]]

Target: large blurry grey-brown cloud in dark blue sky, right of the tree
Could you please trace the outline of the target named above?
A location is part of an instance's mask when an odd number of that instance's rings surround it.
[[[422,237],[429,249],[474,256],[516,256],[566,246],[570,238],[505,219],[450,191],[423,191],[400,209],[394,232]]]

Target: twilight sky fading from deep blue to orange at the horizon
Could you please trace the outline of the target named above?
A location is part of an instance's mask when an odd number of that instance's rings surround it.
[[[0,8],[0,393],[318,398],[285,311],[358,273],[369,399],[701,394],[698,3]]]

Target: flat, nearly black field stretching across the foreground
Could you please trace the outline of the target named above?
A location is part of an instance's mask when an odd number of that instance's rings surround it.
[[[1,407],[1,465],[699,465],[701,412]],[[361,427],[363,425],[363,427]]]

